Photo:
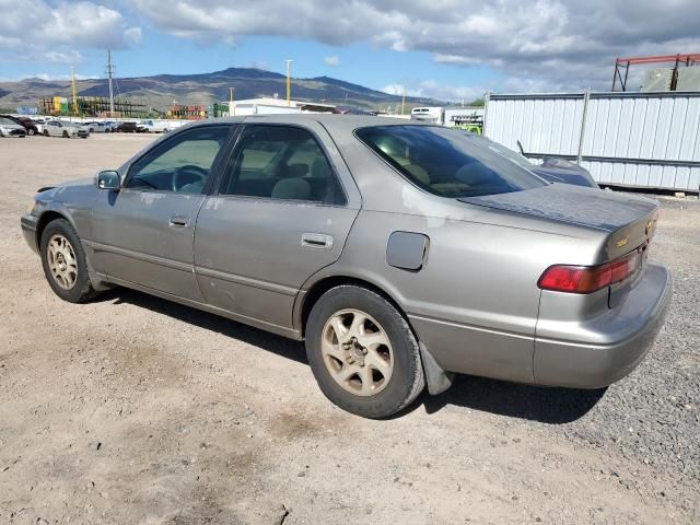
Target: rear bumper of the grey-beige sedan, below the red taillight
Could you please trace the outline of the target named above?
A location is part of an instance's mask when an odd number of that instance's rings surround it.
[[[565,330],[556,338],[536,336],[535,383],[600,388],[628,375],[654,343],[670,303],[672,289],[668,270],[649,265],[644,278],[607,318],[578,326],[575,337]],[[580,339],[582,331],[595,342],[573,340]]]

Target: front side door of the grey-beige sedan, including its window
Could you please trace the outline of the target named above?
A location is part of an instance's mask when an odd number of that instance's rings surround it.
[[[92,221],[96,271],[201,300],[192,268],[195,221],[230,131],[217,125],[173,135],[130,165],[119,191],[101,191]]]

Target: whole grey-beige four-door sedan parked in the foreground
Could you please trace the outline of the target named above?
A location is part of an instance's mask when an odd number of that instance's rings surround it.
[[[629,374],[672,295],[657,217],[440,126],[278,115],[183,127],[21,224],[59,298],[124,285],[304,339],[323,393],[378,418],[455,372]]]

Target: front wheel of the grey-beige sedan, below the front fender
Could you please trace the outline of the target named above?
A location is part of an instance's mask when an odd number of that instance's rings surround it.
[[[49,243],[55,244],[49,247]],[[61,255],[58,256],[58,253]],[[72,259],[67,256],[70,253]],[[83,303],[97,295],[88,277],[88,259],[80,237],[66,219],[55,219],[46,225],[42,233],[40,254],[44,276],[56,295],[69,303]],[[59,271],[61,277],[55,277],[49,259],[52,259],[55,267],[61,262],[65,265],[66,271]],[[70,271],[71,268],[74,271]]]

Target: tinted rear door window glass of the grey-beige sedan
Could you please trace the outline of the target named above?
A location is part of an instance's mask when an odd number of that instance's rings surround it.
[[[220,194],[327,205],[346,202],[316,139],[310,131],[291,126],[247,127],[226,166]]]

